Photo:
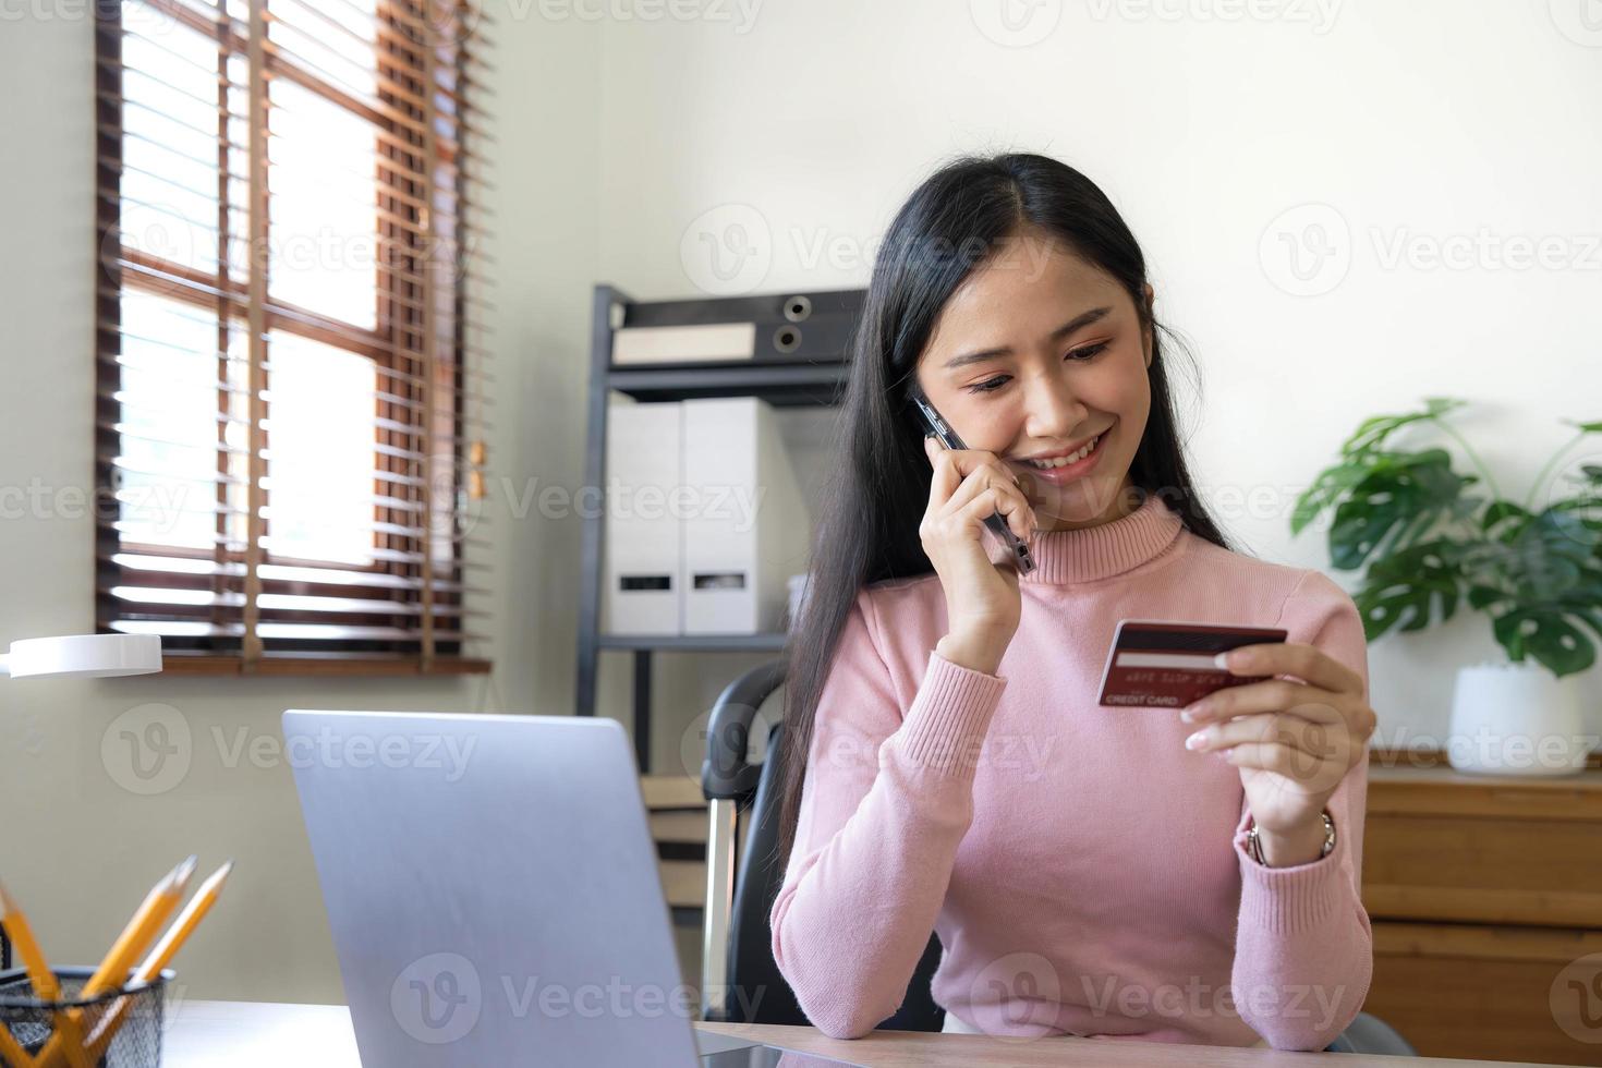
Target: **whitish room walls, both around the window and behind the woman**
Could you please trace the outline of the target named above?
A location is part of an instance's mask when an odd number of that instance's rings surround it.
[[[13,492],[91,477],[83,6],[0,6],[11,250],[0,258],[0,488]],[[1475,5],[1472,18],[1445,0],[1261,2],[1253,10],[1270,18],[1203,18],[1219,6],[1169,0],[1158,10],[1179,18],[1158,18],[1137,3],[1043,0],[1017,8],[1035,19],[1019,34],[1041,38],[1009,46],[996,38],[1020,38],[979,29],[1000,26],[980,0],[674,8],[705,13],[690,21],[646,21],[665,8],[638,0],[492,5],[497,671],[5,685],[0,874],[53,956],[98,956],[178,857],[232,855],[224,906],[186,951],[187,991],[340,998],[288,769],[231,767],[213,729],[226,745],[240,730],[271,743],[279,711],[295,705],[572,706],[578,519],[516,514],[511,503],[530,487],[582,484],[591,285],[646,299],[698,293],[705,264],[681,247],[751,218],[729,205],[755,211],[758,237],[766,227],[758,288],[857,287],[889,215],[940,157],[1059,155],[1102,184],[1145,245],[1158,311],[1193,341],[1205,381],[1192,405],[1200,479],[1259,556],[1326,567],[1317,533],[1288,536],[1294,492],[1357,421],[1424,394],[1479,402],[1463,429],[1498,480],[1522,488],[1564,439],[1557,420],[1602,415],[1588,407],[1602,397],[1602,253],[1584,245],[1602,232],[1602,131],[1584,106],[1602,98],[1602,42],[1565,37],[1560,26],[1580,26],[1565,0],[1552,11]],[[1286,227],[1307,239],[1306,216],[1282,219],[1306,203],[1334,213],[1314,223],[1349,229],[1350,269],[1328,291],[1294,296],[1285,259],[1259,245],[1267,234],[1278,248]],[[1512,269],[1491,253],[1471,269],[1386,266],[1397,234],[1427,251],[1480,227],[1503,240],[1560,239],[1568,267]],[[811,477],[827,420],[787,426]],[[1266,514],[1224,503],[1254,487],[1274,492]],[[43,516],[0,520],[0,639],[93,626],[91,524],[62,514],[59,493],[50,500]],[[1491,652],[1472,615],[1378,642],[1383,735],[1443,737],[1453,669]],[[678,764],[682,730],[756,660],[660,658],[658,769]],[[136,796],[107,773],[101,741],[119,714],[149,701],[179,709],[192,761],[173,789]],[[625,656],[607,658],[601,705],[626,717]]]

